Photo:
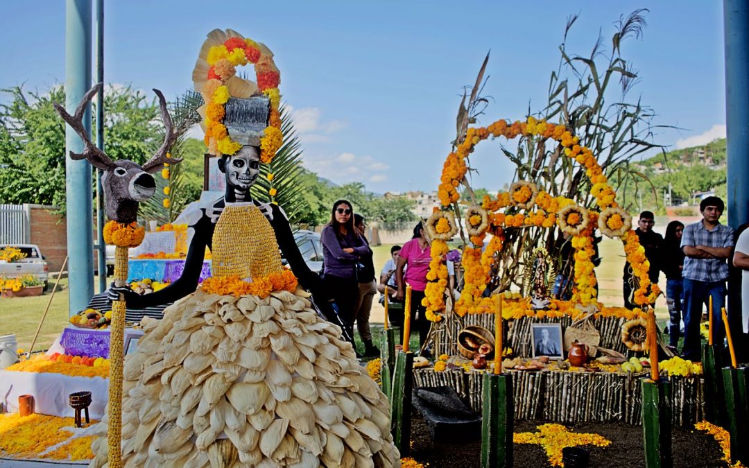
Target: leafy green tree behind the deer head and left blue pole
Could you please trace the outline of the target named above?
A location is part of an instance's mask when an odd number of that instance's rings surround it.
[[[0,203],[51,204],[64,212],[65,127],[53,106],[64,104],[63,86],[46,92],[16,86],[0,92],[9,97],[0,106]],[[106,154],[136,162],[151,157],[163,141],[155,98],[148,100],[130,86],[108,86],[104,108]]]

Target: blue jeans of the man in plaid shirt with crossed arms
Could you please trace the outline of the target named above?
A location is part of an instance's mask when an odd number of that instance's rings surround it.
[[[712,296],[712,337],[713,343],[723,345],[724,329],[721,320],[721,309],[725,306],[726,282],[702,282],[694,279],[684,280],[684,348],[682,356],[693,361],[701,360],[700,320],[703,305]]]

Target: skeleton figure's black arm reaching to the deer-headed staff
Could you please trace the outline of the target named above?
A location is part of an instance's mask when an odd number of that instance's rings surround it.
[[[145,294],[144,296],[138,294],[127,295],[125,297],[127,307],[130,309],[143,309],[145,307],[160,306],[166,303],[173,303],[187,296],[187,294],[194,292],[195,288],[198,287],[200,273],[203,270],[205,247],[207,246],[210,249],[213,228],[215,227],[216,225],[210,222],[207,216],[202,216],[192,226],[195,229],[195,234],[193,234],[190,241],[187,258],[185,258],[185,267],[180,278],[166,288],[151,294]]]

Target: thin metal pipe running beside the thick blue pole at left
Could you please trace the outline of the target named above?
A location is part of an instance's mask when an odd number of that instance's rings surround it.
[[[96,2],[96,82],[104,82],[104,0]],[[97,94],[96,145],[104,151],[104,87]],[[104,243],[104,190],[100,169],[96,171],[96,232],[97,262],[99,265],[99,292],[106,289],[106,243]]]

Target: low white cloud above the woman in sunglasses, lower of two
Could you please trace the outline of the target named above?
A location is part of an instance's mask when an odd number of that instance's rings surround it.
[[[306,153],[305,162],[307,168],[315,171],[322,177],[333,180],[336,183],[347,182],[382,182],[387,179],[387,171],[390,166],[377,161],[372,156],[357,156],[353,153],[342,153],[338,156],[319,156]]]

